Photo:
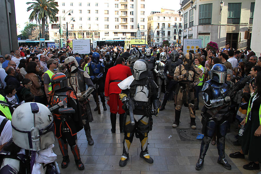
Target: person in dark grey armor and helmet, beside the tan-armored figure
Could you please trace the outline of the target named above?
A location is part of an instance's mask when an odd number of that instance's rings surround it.
[[[162,52],[165,53],[165,52]],[[160,53],[161,54],[161,53]],[[166,53],[165,53],[166,54]],[[175,81],[174,78],[174,72],[177,66],[182,64],[182,60],[179,59],[179,53],[174,50],[170,54],[169,60],[166,61],[166,64],[164,65],[164,75],[166,78],[166,93],[164,95],[163,102],[161,104],[160,110],[164,110],[166,103],[169,99],[169,96],[172,94],[172,92],[176,90],[177,87],[177,81]]]

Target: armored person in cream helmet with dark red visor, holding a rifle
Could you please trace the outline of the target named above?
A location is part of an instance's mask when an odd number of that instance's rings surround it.
[[[91,136],[89,124],[89,122],[93,121],[93,115],[88,98],[82,97],[82,94],[86,92],[86,84],[89,88],[93,88],[93,82],[86,71],[78,68],[78,63],[74,57],[67,57],[64,60],[64,64],[67,68],[65,75],[67,77],[68,87],[74,90],[81,106],[82,122],[84,124],[84,131],[88,144],[93,145],[94,142]]]

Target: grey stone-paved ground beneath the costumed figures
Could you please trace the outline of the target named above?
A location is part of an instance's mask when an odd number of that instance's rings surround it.
[[[163,96],[163,94],[162,94]],[[179,129],[172,128],[172,121],[174,121],[174,102],[167,102],[166,109],[158,114],[158,117],[153,116],[153,129],[148,134],[148,152],[154,159],[153,164],[146,163],[139,157],[140,142],[139,139],[134,138],[129,151],[128,163],[125,167],[119,166],[119,160],[122,155],[124,134],[119,133],[119,115],[117,115],[116,133],[112,134],[110,131],[110,110],[103,111],[101,106],[101,115],[93,111],[95,102],[93,97],[90,97],[92,113],[94,121],[90,123],[91,134],[94,139],[94,145],[89,146],[84,134],[84,130],[78,133],[77,144],[80,148],[81,160],[85,165],[83,171],[79,171],[75,165],[73,155],[69,150],[70,163],[67,168],[62,169],[62,174],[78,174],[78,173],[113,173],[113,174],[167,174],[167,173],[246,173],[256,174],[259,171],[247,171],[242,168],[244,164],[249,161],[247,155],[245,159],[231,159],[228,157],[229,153],[240,150],[239,146],[233,146],[232,141],[235,141],[233,135],[236,134],[234,127],[231,126],[231,133],[226,136],[225,153],[226,159],[232,166],[232,170],[227,170],[217,163],[218,151],[216,145],[209,145],[207,151],[204,167],[201,171],[195,170],[200,153],[200,141],[182,141],[180,139],[180,128],[190,128],[189,111],[188,108],[182,107]],[[202,108],[202,103],[200,103]],[[196,111],[197,129],[201,130],[202,124],[200,122],[200,110]],[[171,135],[171,137],[169,137]],[[62,156],[59,150],[57,141],[55,142],[54,152],[57,154],[57,162],[61,165]]]

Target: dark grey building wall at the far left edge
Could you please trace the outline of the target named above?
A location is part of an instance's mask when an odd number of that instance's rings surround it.
[[[14,0],[0,0],[0,55],[18,49]]]

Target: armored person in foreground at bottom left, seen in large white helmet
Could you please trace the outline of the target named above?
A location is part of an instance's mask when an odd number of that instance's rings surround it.
[[[40,103],[24,103],[12,115],[12,139],[0,152],[0,173],[57,174],[55,126],[50,110]]]

